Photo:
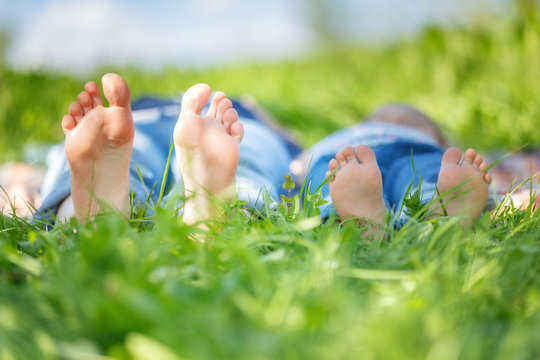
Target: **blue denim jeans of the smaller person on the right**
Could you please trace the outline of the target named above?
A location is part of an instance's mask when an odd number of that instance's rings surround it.
[[[435,194],[435,184],[444,150],[435,140],[416,129],[376,121],[365,122],[336,131],[315,144],[303,156],[310,159],[306,181],[317,188],[328,171],[328,162],[345,146],[368,145],[377,158],[383,178],[383,199],[388,210],[406,220],[402,209],[406,191],[414,193],[421,181],[421,201],[427,202]],[[414,164],[414,166],[413,166]],[[325,184],[323,198],[328,202],[320,207],[321,217],[334,215],[330,188]]]

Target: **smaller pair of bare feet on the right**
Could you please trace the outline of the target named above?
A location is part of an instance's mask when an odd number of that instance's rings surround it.
[[[447,149],[437,180],[441,199],[431,205],[429,212],[463,215],[462,224],[470,226],[488,200],[491,175],[486,169],[487,163],[475,150],[468,149],[462,159],[461,150]],[[368,146],[354,149],[347,146],[338,152],[328,164],[326,177],[330,175],[330,196],[340,218],[384,224],[382,176],[375,154]]]

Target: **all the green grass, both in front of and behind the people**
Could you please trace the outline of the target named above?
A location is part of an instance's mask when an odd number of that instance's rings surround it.
[[[540,12],[431,28],[381,49],[207,70],[122,74],[134,97],[207,82],[250,94],[303,145],[388,101],[418,105],[453,142],[540,146]],[[2,65],[0,159],[61,140],[87,79]],[[310,211],[224,207],[206,242],[169,209],[49,231],[0,217],[0,359],[538,359],[540,212],[473,229],[410,221],[386,240]],[[220,229],[215,231],[212,229]]]

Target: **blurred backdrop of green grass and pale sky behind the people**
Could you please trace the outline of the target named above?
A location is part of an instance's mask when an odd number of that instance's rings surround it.
[[[1,1],[0,159],[60,141],[109,71],[134,97],[250,95],[304,146],[401,101],[457,145],[538,147],[539,19],[532,0]]]

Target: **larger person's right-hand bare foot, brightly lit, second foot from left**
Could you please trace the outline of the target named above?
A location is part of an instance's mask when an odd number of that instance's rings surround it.
[[[184,221],[189,224],[215,216],[215,203],[235,193],[238,144],[244,127],[232,102],[222,92],[212,98],[206,116],[201,111],[212,90],[206,84],[188,89],[174,129],[178,166],[184,183]]]

